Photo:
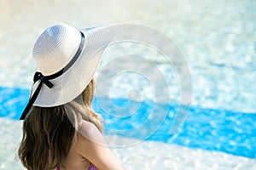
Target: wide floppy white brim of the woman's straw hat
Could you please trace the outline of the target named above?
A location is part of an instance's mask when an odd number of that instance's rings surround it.
[[[84,33],[84,48],[79,59],[60,77],[50,80],[53,88],[43,84],[34,106],[52,107],[64,105],[84,91],[94,77],[102,58],[102,53],[116,35],[111,26],[99,26],[81,29]],[[65,69],[65,68],[64,68]],[[39,82],[32,87],[32,94],[38,88]]]

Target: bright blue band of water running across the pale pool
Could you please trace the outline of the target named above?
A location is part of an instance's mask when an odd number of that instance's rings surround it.
[[[29,90],[21,88],[0,87],[0,116],[11,119],[19,119],[20,112],[26,105],[26,97]],[[93,107],[105,119],[107,134],[119,136],[162,141],[167,144],[179,144],[189,148],[201,148],[204,150],[218,150],[236,156],[256,158],[256,114],[235,111],[222,111],[191,107],[186,122],[183,123],[178,133],[170,133],[178,105],[160,105],[154,102],[143,101],[139,103],[137,112],[124,118],[116,118],[102,109],[108,106],[107,98],[104,106],[98,105],[96,98]],[[129,101],[130,105],[137,105],[136,101]],[[127,105],[127,99],[113,99],[113,103],[119,107]],[[147,129],[141,131],[137,125],[143,124],[152,110],[162,114],[167,111],[162,120],[157,119],[147,124]],[[121,115],[119,110],[112,110],[115,115]],[[129,112],[129,111],[128,111]],[[155,114],[155,113],[153,113]]]

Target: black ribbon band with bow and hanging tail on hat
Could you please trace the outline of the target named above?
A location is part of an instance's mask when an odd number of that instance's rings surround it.
[[[41,72],[35,72],[33,82],[34,83],[38,82],[38,81],[40,81],[40,82],[38,84],[38,88],[35,90],[34,94],[32,94],[32,97],[29,99],[25,110],[22,112],[22,114],[20,116],[20,120],[24,120],[26,118],[27,113],[29,112],[32,105],[34,104],[34,102],[38,98],[38,94],[39,94],[39,92],[40,92],[40,90],[43,86],[43,83],[48,88],[54,87],[54,84],[52,82],[50,82],[49,80],[55,79],[56,77],[60,77],[64,72],[66,72],[76,62],[76,60],[79,58],[79,55],[82,53],[83,48],[84,48],[84,34],[83,34],[83,32],[81,32],[81,42],[80,42],[79,49],[78,49],[77,53],[73,56],[73,59],[71,59],[71,61],[69,61],[69,63],[63,69],[61,69],[61,71],[58,71],[55,74],[45,76],[45,77]]]

